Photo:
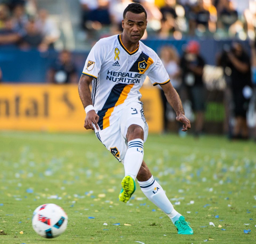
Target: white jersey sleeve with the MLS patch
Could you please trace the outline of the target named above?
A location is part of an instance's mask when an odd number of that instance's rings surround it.
[[[99,71],[101,70],[101,64],[103,61],[103,48],[100,40],[93,46],[89,55],[87,56],[85,67],[83,68],[83,74],[90,77],[98,78]]]

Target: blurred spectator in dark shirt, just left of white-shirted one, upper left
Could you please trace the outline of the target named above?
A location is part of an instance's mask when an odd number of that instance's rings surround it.
[[[34,19],[30,19],[26,24],[26,34],[22,37],[20,47],[22,49],[35,49],[46,51],[48,46],[43,43],[43,35],[37,28]]]

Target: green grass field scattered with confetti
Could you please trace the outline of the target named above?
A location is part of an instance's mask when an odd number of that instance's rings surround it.
[[[149,135],[144,159],[194,235],[178,235],[138,184],[133,199],[118,201],[123,166],[93,133],[2,131],[0,145],[1,243],[256,243],[252,141]],[[60,205],[69,217],[55,239],[31,225],[44,203]]]

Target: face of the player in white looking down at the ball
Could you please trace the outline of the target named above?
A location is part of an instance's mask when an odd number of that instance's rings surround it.
[[[137,43],[147,28],[147,20],[145,13],[134,14],[127,12],[125,19],[122,20],[123,36],[128,39],[128,41]]]

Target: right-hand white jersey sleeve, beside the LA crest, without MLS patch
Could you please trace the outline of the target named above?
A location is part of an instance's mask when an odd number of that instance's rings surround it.
[[[153,65],[147,76],[149,77],[153,86],[156,86],[158,84],[163,85],[170,82],[169,75],[158,56],[155,64]]]

